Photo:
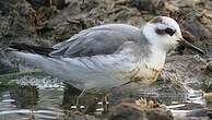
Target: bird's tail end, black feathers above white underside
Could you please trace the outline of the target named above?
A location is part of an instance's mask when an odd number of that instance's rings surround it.
[[[12,57],[24,60],[27,63],[46,70],[49,60],[49,53],[54,48],[27,45],[22,43],[12,43],[4,51]]]

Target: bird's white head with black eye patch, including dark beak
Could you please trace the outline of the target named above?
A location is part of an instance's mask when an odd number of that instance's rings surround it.
[[[182,38],[178,23],[167,16],[156,16],[143,27],[143,34],[150,44],[162,50],[169,51],[177,46],[185,46],[199,53],[204,51]]]

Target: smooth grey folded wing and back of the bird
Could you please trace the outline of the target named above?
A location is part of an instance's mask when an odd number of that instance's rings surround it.
[[[146,43],[139,28],[110,24],[92,27],[80,32],[70,39],[54,46],[57,49],[50,52],[51,57],[91,57],[110,55],[117,51],[126,41],[136,44]]]

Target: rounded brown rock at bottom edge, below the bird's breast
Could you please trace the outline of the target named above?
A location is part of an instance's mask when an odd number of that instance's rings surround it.
[[[139,105],[128,101],[115,106],[109,111],[108,120],[174,120],[174,118],[165,108],[151,107],[146,101]]]

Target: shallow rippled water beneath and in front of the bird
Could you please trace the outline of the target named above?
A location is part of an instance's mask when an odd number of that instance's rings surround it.
[[[44,74],[7,76],[3,81],[7,82],[0,81],[0,118],[4,120],[61,119],[75,109],[75,99],[80,94],[75,88]],[[201,92],[188,91],[189,94],[181,95],[162,93],[158,97],[174,115],[187,116],[207,106]],[[101,93],[86,94],[80,100],[82,111],[99,116],[103,96]],[[151,93],[142,96],[151,96]]]

